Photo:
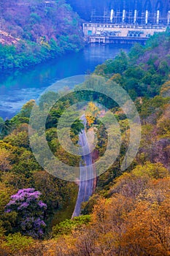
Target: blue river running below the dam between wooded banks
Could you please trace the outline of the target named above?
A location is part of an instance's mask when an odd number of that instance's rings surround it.
[[[0,76],[0,116],[14,116],[29,99],[36,99],[47,86],[62,78],[93,72],[98,64],[113,59],[120,49],[128,52],[131,45],[92,45],[79,53],[69,53],[23,71]]]

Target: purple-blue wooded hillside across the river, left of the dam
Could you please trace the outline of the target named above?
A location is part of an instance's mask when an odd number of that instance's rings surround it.
[[[83,46],[80,18],[64,0],[3,0],[0,13],[0,70],[29,67]]]

